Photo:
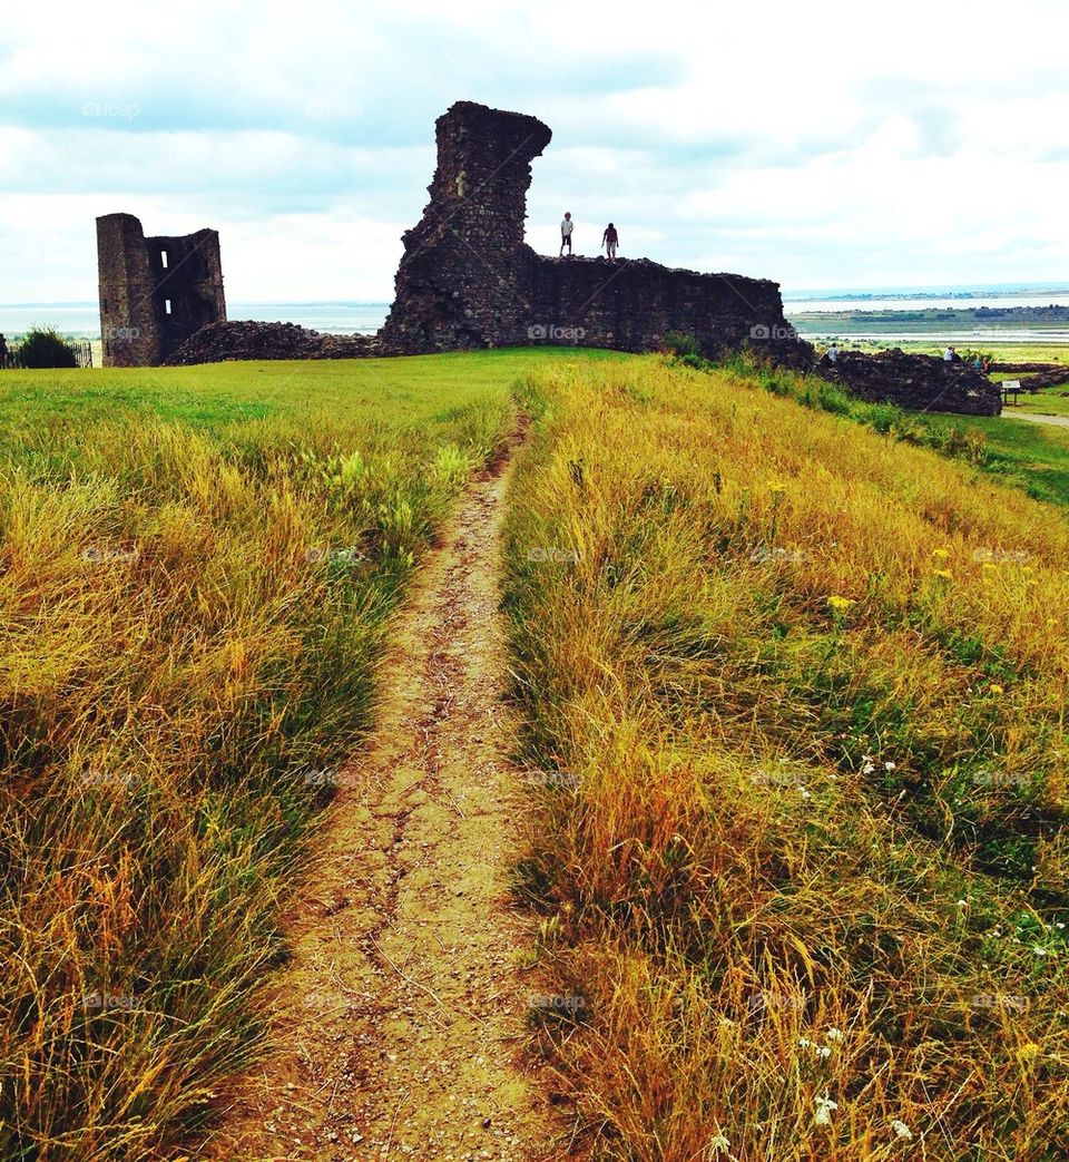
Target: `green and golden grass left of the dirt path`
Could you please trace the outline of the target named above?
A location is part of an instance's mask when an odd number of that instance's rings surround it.
[[[173,1156],[539,358],[0,379],[0,1157]]]

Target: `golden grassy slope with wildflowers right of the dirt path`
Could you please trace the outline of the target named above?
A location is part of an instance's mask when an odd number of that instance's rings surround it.
[[[1064,512],[765,387],[526,387],[547,1049],[601,1159],[1053,1162]]]

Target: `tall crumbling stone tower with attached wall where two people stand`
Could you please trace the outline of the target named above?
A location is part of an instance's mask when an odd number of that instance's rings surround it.
[[[536,117],[459,101],[436,124],[431,200],[403,237],[385,350],[565,342],[651,351],[686,331],[709,354],[749,342],[781,361],[811,354],[787,325],[775,282],[646,259],[546,258],[525,245],[531,162],[552,138]]]

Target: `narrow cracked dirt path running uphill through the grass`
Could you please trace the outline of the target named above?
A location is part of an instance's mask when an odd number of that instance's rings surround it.
[[[509,460],[474,482],[416,581],[375,732],[340,773],[284,921],[294,956],[272,985],[273,1048],[232,1086],[206,1157],[564,1153],[522,1054],[536,982],[508,894],[524,811],[497,608]]]

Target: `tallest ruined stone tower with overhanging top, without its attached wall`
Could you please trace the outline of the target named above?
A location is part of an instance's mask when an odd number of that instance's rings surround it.
[[[458,101],[436,122],[438,167],[423,218],[403,236],[396,301],[381,337],[399,351],[528,342],[524,245],[531,162],[550,144],[537,117]]]

